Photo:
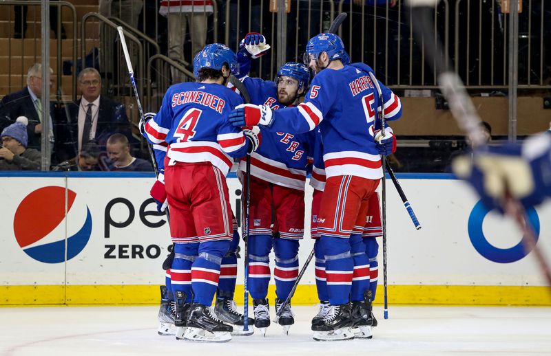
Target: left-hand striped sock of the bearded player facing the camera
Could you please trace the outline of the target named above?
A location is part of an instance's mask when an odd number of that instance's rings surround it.
[[[249,293],[253,299],[264,299],[268,295],[270,282],[269,253],[270,235],[251,235],[249,237]]]

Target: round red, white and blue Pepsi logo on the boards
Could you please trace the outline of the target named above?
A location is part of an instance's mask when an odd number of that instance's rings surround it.
[[[74,191],[47,186],[19,203],[13,230],[25,254],[43,263],[62,263],[78,255],[90,240],[92,215]]]

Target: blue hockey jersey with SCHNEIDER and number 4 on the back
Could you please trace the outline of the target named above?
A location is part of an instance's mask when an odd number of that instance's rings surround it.
[[[159,169],[165,155],[178,162],[211,162],[227,175],[231,157],[247,154],[247,140],[229,123],[238,94],[218,85],[183,82],[165,93],[155,118],[145,124],[145,137],[153,144]]]

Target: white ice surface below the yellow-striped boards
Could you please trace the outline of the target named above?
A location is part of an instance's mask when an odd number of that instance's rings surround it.
[[[373,340],[315,342],[315,307],[293,307],[289,336],[272,322],[266,337],[201,344],[159,336],[158,307],[0,308],[0,355],[551,355],[551,308],[391,307]],[[273,311],[272,311],[273,313]]]

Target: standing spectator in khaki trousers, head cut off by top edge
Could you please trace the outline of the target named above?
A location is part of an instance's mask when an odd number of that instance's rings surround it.
[[[207,43],[207,16],[212,14],[213,0],[163,0],[159,13],[168,19],[168,56],[171,59],[191,63],[195,55]],[[235,14],[232,14],[235,16]],[[186,27],[191,38],[191,57],[184,58]],[[171,68],[172,82],[181,82],[180,71]]]

